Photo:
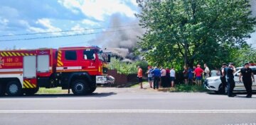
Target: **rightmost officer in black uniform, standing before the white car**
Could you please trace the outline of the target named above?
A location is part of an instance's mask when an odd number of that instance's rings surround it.
[[[247,92],[246,97],[252,97],[252,80],[255,82],[254,74],[252,73],[252,69],[249,68],[249,63],[245,63],[244,68],[240,71],[239,81],[245,85],[245,89]]]

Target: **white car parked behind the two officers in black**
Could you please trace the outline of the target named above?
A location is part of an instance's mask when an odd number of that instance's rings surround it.
[[[256,78],[256,66],[250,66],[252,69],[252,72],[255,74]],[[235,80],[235,88],[234,91],[246,91],[245,86],[242,82],[239,82],[239,74],[242,67],[237,68],[237,71],[234,73],[234,80]],[[207,78],[205,83],[205,88],[208,90],[213,90],[216,93],[221,93],[223,91],[222,83],[220,81],[220,76],[213,76],[210,78]],[[225,88],[227,90],[227,88]],[[256,91],[256,83],[252,82],[252,91]]]

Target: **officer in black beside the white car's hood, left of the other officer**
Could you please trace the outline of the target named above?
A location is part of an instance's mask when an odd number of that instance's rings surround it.
[[[228,97],[235,97],[233,95],[233,90],[235,88],[235,81],[234,81],[234,73],[235,73],[235,66],[233,63],[230,63],[227,68],[225,68],[225,77],[228,81]]]

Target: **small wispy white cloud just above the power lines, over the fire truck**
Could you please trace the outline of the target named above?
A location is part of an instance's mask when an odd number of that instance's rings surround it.
[[[31,32],[53,32],[53,35],[61,35],[60,28],[57,28],[53,26],[50,22],[50,19],[48,18],[41,18],[36,21],[37,24],[42,25],[44,28],[36,28],[31,25],[29,25],[25,20],[21,20],[21,23],[26,24],[28,27],[28,30]]]

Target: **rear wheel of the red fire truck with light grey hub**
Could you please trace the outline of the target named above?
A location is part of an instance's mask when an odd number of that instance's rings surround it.
[[[10,81],[6,85],[6,93],[9,96],[18,96],[22,93],[21,83],[18,81]]]

